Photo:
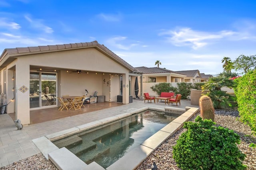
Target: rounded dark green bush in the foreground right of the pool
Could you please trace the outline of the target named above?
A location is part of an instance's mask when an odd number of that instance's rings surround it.
[[[214,122],[196,117],[196,122],[185,122],[188,129],[173,147],[173,158],[184,170],[243,170],[245,158],[236,144],[240,137],[234,131],[214,126]]]

